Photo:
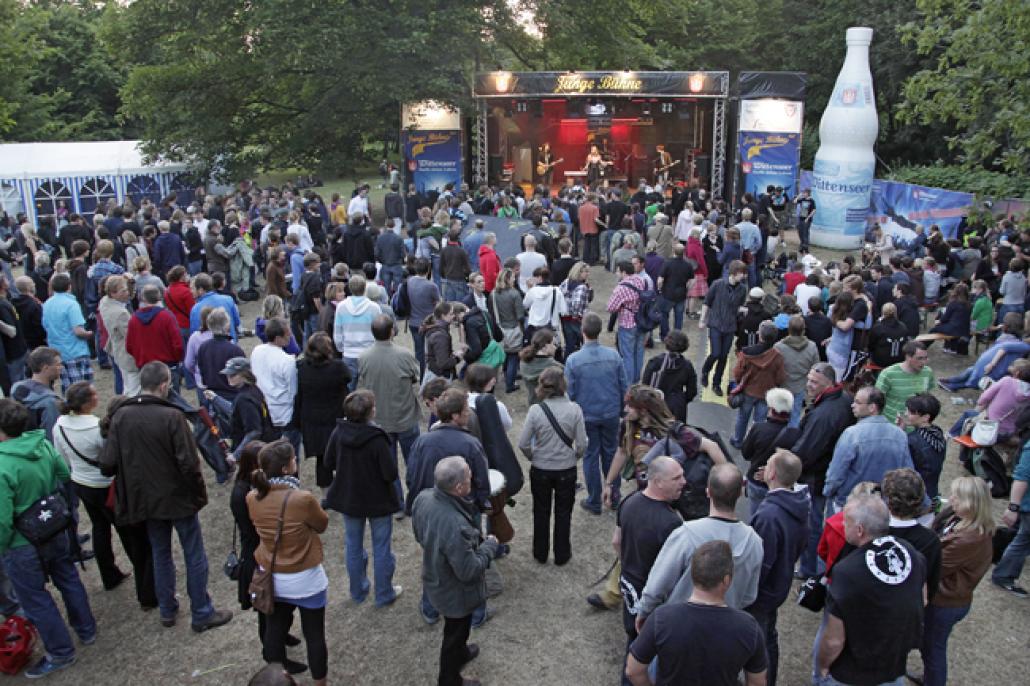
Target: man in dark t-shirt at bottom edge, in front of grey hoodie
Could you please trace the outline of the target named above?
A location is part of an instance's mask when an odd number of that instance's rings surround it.
[[[725,541],[701,544],[690,561],[693,591],[686,603],[665,604],[644,623],[629,647],[626,678],[646,686],[658,658],[656,686],[748,686],[765,683],[765,642],[754,617],[726,607],[733,551]]]

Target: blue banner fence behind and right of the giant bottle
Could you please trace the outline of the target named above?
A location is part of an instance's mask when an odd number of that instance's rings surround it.
[[[812,187],[812,172],[801,172],[800,187]],[[935,224],[946,238],[954,238],[972,204],[969,193],[878,178],[872,181],[867,221],[870,230],[879,225],[901,244],[916,236],[916,225],[929,230]]]

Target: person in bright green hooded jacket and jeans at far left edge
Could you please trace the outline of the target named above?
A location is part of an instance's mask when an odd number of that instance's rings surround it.
[[[97,640],[97,621],[72,560],[70,536],[75,529],[69,527],[47,541],[45,549],[37,549],[14,527],[19,515],[71,478],[43,430],[26,431],[29,425],[28,408],[0,400],[0,554],[25,616],[39,630],[46,651],[26,672],[27,677],[36,679],[75,662],[75,644],[46,589],[47,580],[61,591],[68,622],[82,645]]]

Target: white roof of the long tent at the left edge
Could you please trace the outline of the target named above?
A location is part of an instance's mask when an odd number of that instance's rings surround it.
[[[49,178],[190,171],[184,163],[144,164],[139,141],[0,144],[0,178]]]

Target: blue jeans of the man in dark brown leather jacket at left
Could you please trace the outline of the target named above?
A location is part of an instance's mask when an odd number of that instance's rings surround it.
[[[179,537],[182,557],[186,563],[186,593],[194,624],[203,624],[214,614],[207,594],[207,553],[200,530],[200,518],[195,514],[181,519],[147,519],[146,533],[153,555],[153,585],[163,619],[174,618],[179,611],[175,599],[175,563],[172,561],[172,528]]]

